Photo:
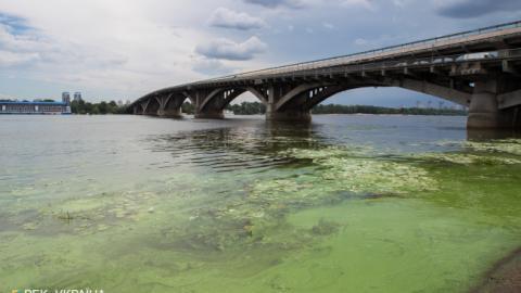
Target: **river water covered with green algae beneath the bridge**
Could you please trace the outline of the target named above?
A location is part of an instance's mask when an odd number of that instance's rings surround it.
[[[459,117],[1,117],[0,291],[467,292],[521,245],[521,140]]]

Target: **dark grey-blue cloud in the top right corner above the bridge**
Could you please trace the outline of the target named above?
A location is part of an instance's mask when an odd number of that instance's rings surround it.
[[[501,11],[521,10],[520,0],[458,0],[440,1],[437,13],[454,18],[471,18]]]

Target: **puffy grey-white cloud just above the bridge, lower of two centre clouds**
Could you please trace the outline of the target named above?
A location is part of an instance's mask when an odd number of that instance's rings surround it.
[[[198,46],[195,52],[208,59],[246,61],[255,54],[264,53],[267,48],[266,43],[254,36],[240,43],[225,38],[215,39]]]

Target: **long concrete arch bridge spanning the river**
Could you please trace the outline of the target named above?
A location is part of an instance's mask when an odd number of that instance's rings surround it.
[[[251,92],[269,120],[310,120],[312,109],[339,92],[399,87],[468,106],[468,128],[520,128],[520,63],[521,21],[160,89],[128,111],[180,117],[188,99],[195,118],[224,118],[233,99]]]

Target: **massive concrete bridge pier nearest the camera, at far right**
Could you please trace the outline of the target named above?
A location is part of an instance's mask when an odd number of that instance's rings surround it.
[[[497,129],[512,128],[512,115],[508,111],[499,110],[498,93],[499,80],[490,78],[474,84],[474,93],[470,101],[467,128]]]

